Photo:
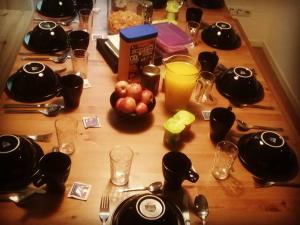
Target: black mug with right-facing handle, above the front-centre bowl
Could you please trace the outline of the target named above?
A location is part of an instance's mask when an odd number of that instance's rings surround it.
[[[195,183],[199,179],[191,160],[181,152],[168,152],[162,159],[164,189],[180,189],[184,180]]]

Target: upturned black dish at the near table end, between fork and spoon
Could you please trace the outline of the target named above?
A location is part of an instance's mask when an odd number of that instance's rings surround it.
[[[184,225],[184,219],[181,210],[164,197],[159,198],[165,204],[165,211],[158,219],[144,219],[138,212],[139,200],[143,197],[155,195],[134,195],[124,200],[115,210],[112,216],[112,225]],[[151,206],[149,206],[151,207]]]

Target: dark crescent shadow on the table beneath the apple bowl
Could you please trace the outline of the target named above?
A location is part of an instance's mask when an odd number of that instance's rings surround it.
[[[107,117],[112,127],[126,133],[143,132],[151,127],[154,122],[152,113],[142,118],[123,118],[111,109]]]

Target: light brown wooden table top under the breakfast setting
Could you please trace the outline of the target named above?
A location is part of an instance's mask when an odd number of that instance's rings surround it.
[[[185,9],[179,14],[179,26],[184,26]],[[234,108],[236,117],[252,124],[283,127],[282,135],[288,136],[289,145],[295,150],[299,159],[299,140],[297,133],[288,123],[280,107],[268,88],[268,84],[260,73],[251,49],[239,24],[233,20],[226,10],[204,10],[203,20],[209,24],[216,21],[226,21],[233,25],[242,37],[240,48],[232,51],[216,50],[201,42],[192,49],[191,55],[197,56],[201,51],[216,51],[220,63],[226,67],[246,66],[254,68],[257,78],[262,83],[265,97],[260,104],[272,105],[275,110]],[[30,29],[30,28],[29,28]],[[117,75],[112,73],[102,56],[96,51],[95,41],[89,46],[88,79],[91,88],[84,89],[79,108],[70,113],[62,113],[57,117],[45,117],[40,114],[5,114],[0,111],[0,133],[31,134],[53,132],[49,143],[39,143],[44,152],[50,152],[52,146],[57,145],[54,122],[58,118],[73,117],[79,122],[76,152],[71,156],[72,167],[63,195],[45,194],[34,195],[22,205],[12,202],[0,202],[0,224],[101,224],[98,218],[100,197],[109,193],[111,208],[113,208],[128,194],[120,194],[117,187],[110,183],[109,151],[116,144],[129,145],[134,151],[133,165],[129,186],[148,185],[154,181],[163,181],[161,159],[169,149],[163,144],[163,123],[171,116],[164,107],[164,94],[156,97],[157,104],[151,116],[142,122],[126,122],[120,120],[112,111],[109,97],[117,81]],[[22,47],[20,51],[25,51]],[[20,56],[16,58],[12,73],[25,62]],[[51,68],[59,69],[64,65],[71,68],[71,62],[65,64],[48,63]],[[228,100],[223,98],[215,89],[216,106],[227,107]],[[61,101],[61,99],[51,99]],[[5,94],[1,103],[14,103]],[[192,203],[197,194],[204,194],[209,202],[208,224],[228,225],[262,225],[262,224],[299,224],[300,189],[286,187],[255,188],[252,175],[237,159],[232,175],[225,181],[218,182],[211,175],[211,166],[215,152],[214,145],[209,138],[209,123],[200,114],[200,107],[190,109],[197,116],[192,125],[192,136],[180,149],[192,160],[194,168],[200,174],[196,183],[185,181],[184,194],[188,200],[191,224],[200,224],[192,210]],[[83,116],[98,116],[101,128],[84,129]],[[232,127],[232,132],[241,133]],[[253,131],[252,131],[253,132]],[[298,151],[297,151],[298,150]],[[300,181],[299,176],[295,178]],[[75,200],[67,197],[73,182],[83,182],[92,185],[87,201]],[[135,224],[134,221],[132,224]]]

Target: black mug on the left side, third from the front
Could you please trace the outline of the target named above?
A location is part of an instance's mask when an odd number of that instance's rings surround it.
[[[74,30],[68,34],[68,40],[71,48],[87,49],[90,41],[90,34],[83,30]]]

